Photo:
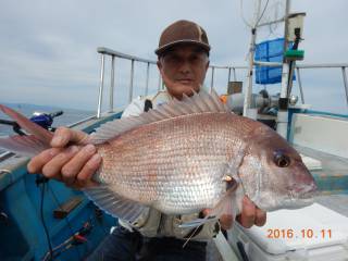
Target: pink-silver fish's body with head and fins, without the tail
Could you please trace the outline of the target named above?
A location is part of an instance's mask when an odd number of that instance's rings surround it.
[[[138,117],[107,123],[90,142],[103,159],[94,176],[101,185],[85,191],[128,221],[149,207],[166,214],[206,208],[213,209],[211,216],[232,209],[237,214],[245,195],[266,211],[300,208],[316,189],[285,139],[229,112],[215,95],[185,97]],[[9,140],[1,145],[9,148]]]

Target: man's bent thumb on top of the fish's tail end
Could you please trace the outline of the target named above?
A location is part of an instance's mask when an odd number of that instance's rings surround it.
[[[65,147],[69,142],[84,144],[88,135],[80,130],[74,130],[67,127],[59,127],[54,132],[51,140],[52,147]]]

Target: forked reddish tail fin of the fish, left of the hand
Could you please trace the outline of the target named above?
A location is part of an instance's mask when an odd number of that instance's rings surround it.
[[[14,120],[23,129],[32,134],[0,138],[0,147],[24,156],[34,156],[50,147],[50,141],[53,137],[52,133],[5,105],[0,104],[0,110]]]

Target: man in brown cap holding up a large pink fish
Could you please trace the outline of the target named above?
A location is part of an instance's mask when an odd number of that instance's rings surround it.
[[[170,25],[161,35],[158,67],[166,87],[162,96],[134,100],[123,116],[139,115],[150,108],[170,99],[182,99],[183,95],[199,92],[209,67],[210,46],[207,34],[199,25],[189,21],[178,21]],[[51,141],[52,149],[33,158],[28,164],[32,173],[41,172],[45,176],[64,182],[67,186],[83,188],[97,186],[92,174],[101,164],[101,158],[92,145],[84,145],[87,135],[67,128],[59,128]],[[77,145],[64,148],[69,142]],[[206,240],[212,238],[220,227],[215,223],[206,224],[199,229],[179,228],[182,221],[197,219],[209,210],[192,215],[169,216],[154,209],[141,213],[133,223],[120,221],[121,226],[110,235],[89,260],[204,260]],[[265,213],[247,197],[243,202],[243,213],[237,217],[245,227],[263,225]],[[232,226],[232,216],[223,215],[222,228]],[[183,248],[184,238],[191,237]]]

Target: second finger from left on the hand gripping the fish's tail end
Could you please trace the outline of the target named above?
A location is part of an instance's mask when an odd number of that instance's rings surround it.
[[[42,174],[48,178],[60,177],[62,166],[69,162],[78,150],[77,146],[71,146],[67,149],[62,150],[51,161],[45,164],[42,167]]]

